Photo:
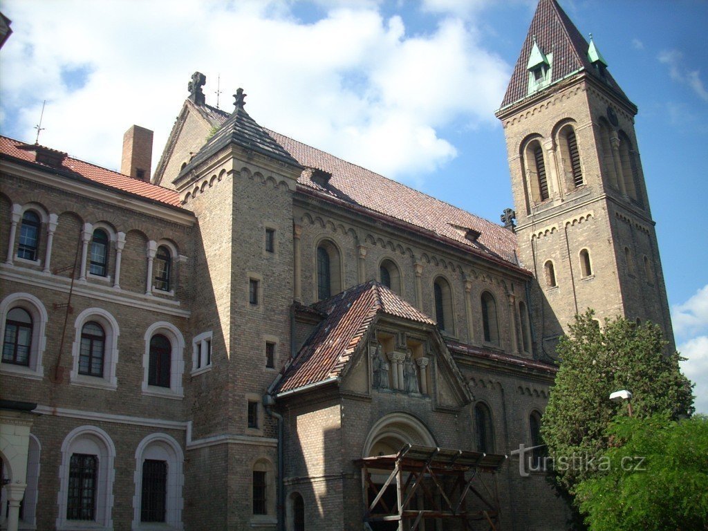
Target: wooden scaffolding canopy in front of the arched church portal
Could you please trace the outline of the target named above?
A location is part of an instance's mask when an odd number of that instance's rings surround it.
[[[445,530],[499,531],[496,473],[505,459],[410,444],[394,455],[356,459],[362,471],[364,529],[422,531],[433,521]]]

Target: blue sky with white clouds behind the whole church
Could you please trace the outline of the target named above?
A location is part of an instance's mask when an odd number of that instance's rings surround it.
[[[638,106],[636,135],[678,350],[708,413],[705,0],[560,0]],[[0,133],[109,169],[195,71],[258,123],[498,222],[513,206],[500,105],[535,0],[0,0]],[[220,91],[217,94],[217,89]]]

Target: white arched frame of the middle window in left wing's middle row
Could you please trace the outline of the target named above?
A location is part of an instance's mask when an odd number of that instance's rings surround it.
[[[96,321],[103,327],[105,332],[103,377],[79,374],[81,330],[84,329],[84,324],[89,321]],[[76,317],[76,321],[74,321],[74,343],[72,343],[72,372],[69,376],[69,381],[72,382],[72,385],[98,387],[115,391],[118,387],[118,377],[115,375],[115,368],[118,365],[118,336],[120,336],[118,321],[103,308],[87,308]]]

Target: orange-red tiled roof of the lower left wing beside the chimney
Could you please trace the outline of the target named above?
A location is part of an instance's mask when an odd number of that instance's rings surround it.
[[[161,202],[165,205],[171,205],[173,207],[178,207],[181,205],[179,195],[174,190],[162,188],[161,186],[151,183],[146,183],[145,181],[140,181],[139,179],[123,175],[122,173],[101,168],[101,166],[96,166],[95,164],[90,164],[89,162],[73,159],[69,156],[64,157],[60,166],[55,167],[42,164],[41,162],[35,161],[35,156],[30,151],[27,149],[21,149],[21,147],[26,145],[27,144],[20,142],[19,140],[0,136],[0,154],[11,156],[15,159],[20,159],[23,161],[28,161],[33,164],[38,164],[39,166],[44,166],[47,169],[68,172],[73,174],[75,177],[85,178],[89,181],[93,181],[94,183],[100,183],[101,185],[116,188],[117,190],[122,190],[123,192],[137,195],[141,198]],[[46,147],[40,146],[40,149],[45,149],[48,152],[57,154],[60,153],[54,149],[49,149]]]

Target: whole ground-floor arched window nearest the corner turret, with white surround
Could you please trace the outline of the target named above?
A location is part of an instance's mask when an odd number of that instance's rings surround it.
[[[151,522],[181,527],[183,462],[180,445],[165,433],[153,433],[140,442],[135,451],[132,529]]]

